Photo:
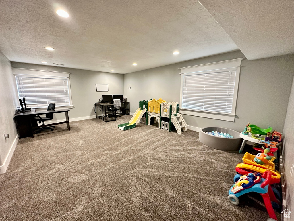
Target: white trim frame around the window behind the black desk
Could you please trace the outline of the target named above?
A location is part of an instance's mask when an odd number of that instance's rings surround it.
[[[56,78],[66,78],[68,81],[68,87],[69,87],[69,103],[70,105],[67,106],[58,106],[56,109],[63,109],[63,108],[73,108],[72,99],[71,99],[71,83],[70,83],[70,72],[59,72],[59,71],[47,71],[47,70],[34,70],[34,69],[26,69],[26,68],[16,68],[12,67],[12,74],[14,76],[20,76],[20,75],[26,75],[26,76],[42,76],[42,77],[56,77]],[[17,88],[16,81],[14,81],[15,88]],[[16,97],[19,97],[18,91],[16,89]],[[16,105],[19,107],[19,105]],[[38,110],[46,110],[46,108],[34,108]]]

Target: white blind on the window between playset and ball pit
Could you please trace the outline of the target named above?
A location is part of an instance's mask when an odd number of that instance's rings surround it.
[[[236,70],[183,76],[182,108],[232,113]]]

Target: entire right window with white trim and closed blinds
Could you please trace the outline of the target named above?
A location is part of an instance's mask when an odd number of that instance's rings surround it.
[[[180,113],[234,121],[242,59],[180,68]]]

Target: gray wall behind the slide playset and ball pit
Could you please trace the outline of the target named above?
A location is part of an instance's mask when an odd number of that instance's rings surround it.
[[[235,51],[125,74],[124,94],[130,101],[131,112],[138,108],[139,100],[162,98],[167,102],[179,103],[179,67],[240,57],[245,56],[242,52]],[[294,55],[253,61],[244,59],[241,65],[235,122],[183,115],[188,125],[198,128],[218,126],[243,131],[245,125],[250,122],[263,128],[272,126],[278,131],[283,131],[294,74]],[[131,90],[128,90],[129,85]]]

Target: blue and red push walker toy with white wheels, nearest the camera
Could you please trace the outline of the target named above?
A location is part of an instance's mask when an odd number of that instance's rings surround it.
[[[270,180],[271,180],[271,174],[272,171],[265,171],[263,175],[260,175],[259,173],[248,173],[242,176],[240,174],[236,174],[234,177],[235,184],[230,188],[229,190],[229,201],[234,204],[239,204],[239,199],[243,194],[249,193],[249,192],[255,192],[259,193],[264,201],[266,210],[268,211],[269,219],[271,220],[277,220],[277,217],[275,215],[275,211],[273,210],[273,206],[271,202],[277,202],[277,199],[275,198],[275,194],[273,193],[271,187],[270,187]],[[250,184],[250,187],[247,187]],[[243,185],[246,185],[247,188],[241,188]],[[233,188],[238,187],[238,191],[233,192]]]

